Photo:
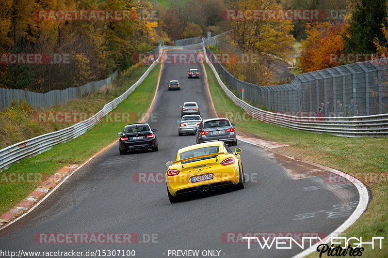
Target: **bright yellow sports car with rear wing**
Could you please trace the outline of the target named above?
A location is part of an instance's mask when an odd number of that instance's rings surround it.
[[[228,186],[244,188],[240,152],[240,148],[232,152],[222,141],[179,149],[177,159],[166,163],[167,194],[170,202],[177,202],[181,196]]]

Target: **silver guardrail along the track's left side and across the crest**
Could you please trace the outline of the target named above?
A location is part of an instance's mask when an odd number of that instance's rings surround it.
[[[14,145],[8,146],[0,150],[0,170],[18,160],[39,154],[41,152],[45,152],[51,149],[54,145],[74,139],[82,135],[83,133],[85,133],[88,129],[92,128],[96,123],[101,121],[101,119],[105,117],[106,114],[111,112],[117,105],[119,105],[123,100],[125,100],[129,96],[129,94],[132,93],[132,91],[134,91],[137,88],[137,86],[139,86],[143,82],[146,76],[148,76],[151,70],[159,62],[160,56],[164,49],[185,49],[185,48],[192,48],[196,46],[202,46],[202,43],[195,44],[192,46],[180,46],[180,47],[161,46],[162,45],[161,43],[162,41],[159,43],[159,46],[157,48],[159,49],[158,58],[150,65],[150,67],[148,67],[147,71],[140,77],[140,79],[137,82],[135,82],[131,87],[129,87],[127,91],[125,91],[119,97],[115,98],[113,101],[106,104],[94,116],[90,117],[85,121],[76,123],[72,126],[69,126],[67,128],[64,128],[56,132],[37,136],[32,139],[28,139],[26,141],[18,142]]]

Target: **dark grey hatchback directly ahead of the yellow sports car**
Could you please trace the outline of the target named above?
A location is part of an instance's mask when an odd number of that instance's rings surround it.
[[[237,135],[233,126],[234,123],[226,117],[203,120],[195,133],[196,143],[223,141],[230,145],[237,145]]]

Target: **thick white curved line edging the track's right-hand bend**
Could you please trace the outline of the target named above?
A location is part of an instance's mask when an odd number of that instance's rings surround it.
[[[246,142],[246,143],[249,143],[249,144],[252,144],[252,145],[256,146],[255,143],[248,142],[248,141],[243,140],[241,138],[239,138],[239,139],[241,141],[243,141],[243,142]],[[320,166],[322,166],[322,165],[320,165]],[[356,186],[358,194],[360,196],[360,199],[358,201],[356,210],[350,215],[350,217],[344,223],[342,223],[342,225],[340,225],[338,228],[336,228],[333,231],[333,232],[336,232],[336,234],[340,234],[340,233],[343,233],[343,231],[345,231],[347,228],[352,226],[353,223],[355,223],[356,220],[359,217],[361,217],[362,213],[365,212],[365,210],[368,207],[369,194],[368,194],[367,187],[360,180],[356,179],[355,177],[353,177],[353,176],[351,176],[351,175],[349,175],[349,174],[347,174],[345,172],[342,172],[342,171],[339,171],[337,169],[331,168],[331,167],[327,167],[327,170],[329,170],[330,172],[335,173],[335,174],[337,174],[337,175],[339,175],[341,177],[345,177],[347,180],[352,182]],[[330,236],[330,234],[329,234],[329,236]],[[325,241],[325,239],[323,239],[323,241]],[[317,246],[319,244],[320,243],[316,243],[316,244],[312,245],[311,248],[303,250],[302,252],[296,254],[292,258],[302,258],[302,257],[305,257],[305,256],[311,254],[312,252],[317,250]]]

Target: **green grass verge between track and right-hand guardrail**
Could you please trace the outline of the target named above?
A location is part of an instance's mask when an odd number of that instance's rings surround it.
[[[218,114],[227,111],[243,112],[219,86],[210,67],[205,64],[209,87]],[[240,114],[240,113],[239,113]],[[388,257],[388,137],[347,138],[328,134],[315,134],[292,130],[274,124],[254,121],[247,116],[242,121],[232,117],[237,131],[252,133],[260,138],[288,144],[276,149],[290,156],[333,167],[364,181],[371,188],[372,197],[368,209],[343,233],[346,237],[362,237],[364,242],[372,237],[385,237],[383,249],[365,246],[362,257]],[[370,175],[385,173],[380,182],[370,182]],[[381,174],[380,174],[381,175]],[[365,181],[365,176],[367,179]],[[319,257],[314,252],[309,257]]]

